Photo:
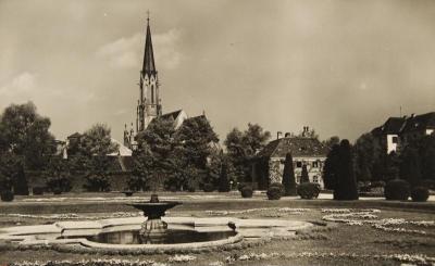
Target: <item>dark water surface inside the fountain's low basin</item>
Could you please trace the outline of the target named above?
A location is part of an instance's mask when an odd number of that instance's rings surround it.
[[[139,230],[103,232],[87,237],[89,241],[110,244],[176,244],[206,242],[235,236],[234,231],[198,232],[191,230],[166,230],[163,236],[145,238]]]

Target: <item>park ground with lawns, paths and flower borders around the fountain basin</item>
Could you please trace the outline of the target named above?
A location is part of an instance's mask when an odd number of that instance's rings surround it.
[[[435,263],[435,201],[413,203],[366,198],[337,202],[331,194],[318,200],[282,198],[269,201],[263,193],[241,199],[229,193],[161,193],[161,200],[178,200],[167,216],[289,219],[319,223],[319,230],[294,239],[272,240],[232,251],[175,255],[100,255],[61,253],[52,250],[0,249],[0,265],[7,263],[123,259],[150,261],[154,265],[433,265]],[[17,225],[97,219],[140,215],[125,203],[148,200],[149,193],[130,198],[122,193],[66,193],[16,197],[0,203],[0,230]],[[365,215],[366,214],[366,215]],[[337,215],[337,216],[334,216]],[[341,215],[341,216],[340,216]],[[331,218],[340,221],[331,221]],[[353,223],[360,219],[362,223]],[[380,221],[378,227],[371,220]],[[324,226],[326,225],[326,226]]]

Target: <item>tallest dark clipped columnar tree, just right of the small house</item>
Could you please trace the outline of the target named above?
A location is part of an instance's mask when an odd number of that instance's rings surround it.
[[[334,189],[334,200],[358,200],[357,180],[353,170],[353,155],[347,139],[341,140],[338,150],[339,167]]]

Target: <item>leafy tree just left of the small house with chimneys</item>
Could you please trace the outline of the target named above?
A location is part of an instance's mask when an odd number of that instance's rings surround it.
[[[250,175],[250,160],[258,151],[263,149],[271,134],[264,131],[263,128],[257,124],[248,124],[248,129],[240,131],[233,128],[224,141],[226,147],[229,163],[234,166],[237,173],[238,182],[249,179]]]

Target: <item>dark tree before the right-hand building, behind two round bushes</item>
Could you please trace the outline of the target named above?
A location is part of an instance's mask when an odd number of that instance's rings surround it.
[[[407,147],[400,155],[400,178],[415,187],[422,179],[420,155],[417,149]]]

